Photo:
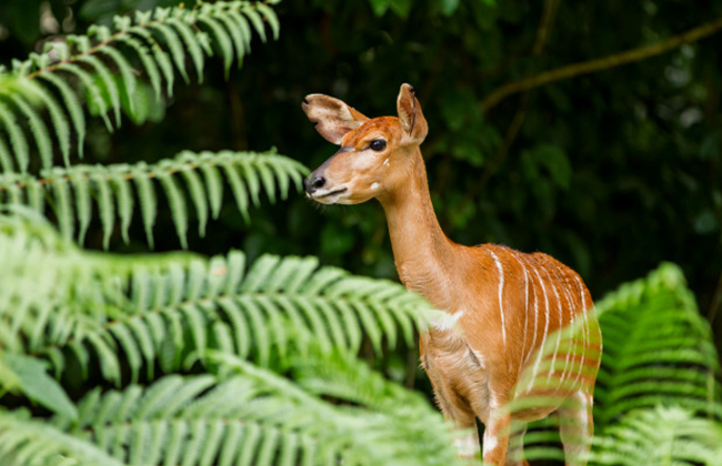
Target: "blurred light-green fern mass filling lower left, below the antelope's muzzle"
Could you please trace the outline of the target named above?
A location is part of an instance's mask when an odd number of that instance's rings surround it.
[[[239,252],[90,253],[31,212],[0,220],[1,387],[57,413],[43,426],[0,411],[3,464],[94,464],[102,452],[119,464],[455,462],[428,402],[355,356],[362,335],[379,353],[399,333],[413,344],[414,323],[433,315],[401,285],[315,259],[264,256],[245,271]],[[77,405],[54,383],[38,395],[38,358],[60,379],[79,365],[122,389],[96,388]],[[190,367],[208,374],[163,376]],[[289,371],[298,385],[278,375]]]

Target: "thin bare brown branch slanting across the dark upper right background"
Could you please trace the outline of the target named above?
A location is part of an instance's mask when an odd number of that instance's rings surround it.
[[[638,49],[614,53],[594,60],[583,61],[581,63],[568,64],[555,70],[544,71],[534,77],[502,85],[481,101],[481,108],[484,112],[487,112],[489,109],[495,107],[499,102],[509,95],[515,94],[518,92],[539,88],[540,85],[544,85],[550,82],[574,78],[580,74],[606,70],[610,68],[619,67],[621,64],[626,64],[634,61],[644,60],[650,57],[659,55],[672,49],[676,49],[682,44],[694,42],[708,36],[712,36],[720,29],[722,29],[722,18],[718,18],[714,21],[698,26],[694,29],[691,29],[678,36],[673,36],[666,40],[653,43],[651,45],[640,47]]]

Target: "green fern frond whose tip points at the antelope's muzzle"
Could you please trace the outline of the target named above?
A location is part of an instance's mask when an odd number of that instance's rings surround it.
[[[184,151],[174,159],[152,165],[144,162],[134,165],[76,165],[43,170],[39,178],[16,173],[0,175],[0,203],[24,203],[42,211],[44,202],[37,196],[43,193],[62,234],[66,237],[77,234],[81,244],[94,204],[103,227],[103,243],[108,247],[117,221],[120,221],[121,234],[128,241],[133,205],[138,202],[147,239],[152,246],[152,227],[158,212],[157,185],[160,184],[181,245],[185,247],[187,197],[195,209],[199,234],[203,236],[209,215],[217,219],[220,213],[223,175],[241,215],[249,221],[248,210],[251,204],[259,205],[259,193],[275,201],[278,190],[285,199],[291,183],[300,189],[307,171],[299,162],[278,155],[274,150],[261,154],[230,151],[195,154]]]

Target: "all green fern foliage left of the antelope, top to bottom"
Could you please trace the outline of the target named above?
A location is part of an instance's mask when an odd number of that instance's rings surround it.
[[[171,63],[189,82],[189,58],[200,83],[207,54],[218,50],[228,75],[252,31],[265,41],[268,22],[279,33],[265,3],[113,21],[0,73],[0,463],[461,464],[428,401],[359,359],[367,347],[413,346],[435,315],[400,284],[315,257],[248,266],[238,251],[129,255],[73,242],[94,231],[106,249],[116,232],[130,243],[140,216],[152,246],[168,211],[185,249],[191,221],[202,237],[230,203],[227,189],[249,222],[251,206],[285,200],[308,171],[275,150],[73,164],[73,136],[81,154],[92,136],[83,105],[108,130],[124,113],[144,121],[136,95],[150,85],[160,97],[166,80],[170,97]],[[16,124],[23,119],[28,128]],[[67,166],[56,166],[53,145]]]

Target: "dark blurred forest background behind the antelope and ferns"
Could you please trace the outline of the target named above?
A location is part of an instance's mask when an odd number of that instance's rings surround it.
[[[0,63],[56,34],[171,4],[3,0]],[[409,82],[429,121],[422,151],[450,237],[550,253],[576,269],[596,298],[674,262],[720,347],[722,1],[285,0],[274,9],[280,39],[257,47],[230,79],[217,60],[203,84],[178,87],[170,101],[154,101],[144,84],[136,95],[144,104],[129,115],[136,124],[110,134],[91,121],[86,162],[277,146],[314,168],[335,149],[305,120],[305,94],[331,94],[378,116],[395,113],[399,85]],[[622,53],[630,50],[640,53]],[[251,224],[229,204],[204,239],[191,229],[189,249],[240,247],[251,260],[319,255],[395,278],[373,204],[319,210],[299,194],[254,211]],[[134,229],[130,236],[142,239],[142,226]],[[156,250],[180,247],[172,230],[170,214],[161,215]],[[94,231],[84,245],[101,249]],[[119,234],[110,245],[147,247]]]

